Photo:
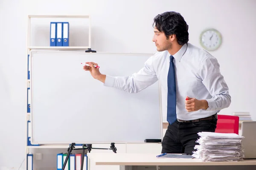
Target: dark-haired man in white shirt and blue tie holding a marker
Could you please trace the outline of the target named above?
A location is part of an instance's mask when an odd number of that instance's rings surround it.
[[[137,73],[127,77],[104,75],[93,67],[98,65],[94,62],[87,62],[89,66],[83,69],[105,86],[129,93],[138,93],[159,80],[169,122],[162,153],[192,154],[198,132],[215,132],[217,113],[231,102],[229,89],[217,59],[188,43],[188,25],[179,13],[157,15],[153,26],[152,41],[159,52]]]

